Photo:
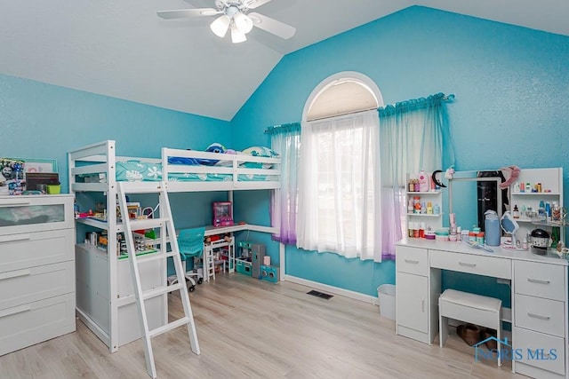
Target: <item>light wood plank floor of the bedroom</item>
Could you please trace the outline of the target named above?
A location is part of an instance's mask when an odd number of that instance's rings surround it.
[[[395,335],[378,307],[311,288],[219,275],[190,294],[201,355],[186,328],[154,338],[160,378],[509,378],[509,362],[476,362],[453,335],[445,348]],[[171,316],[180,298],[170,295]],[[132,320],[137,322],[137,320]],[[436,341],[436,343],[438,343]],[[77,320],[75,333],[0,357],[0,378],[145,378],[142,343],[114,354]]]

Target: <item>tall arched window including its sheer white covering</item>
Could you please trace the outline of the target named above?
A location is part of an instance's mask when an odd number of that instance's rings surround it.
[[[381,261],[381,91],[367,76],[325,79],[304,107],[297,246]]]

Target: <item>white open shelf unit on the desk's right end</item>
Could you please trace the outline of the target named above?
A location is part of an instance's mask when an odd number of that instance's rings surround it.
[[[525,187],[530,184],[534,188],[538,183],[541,186],[541,192],[517,192],[517,186],[511,185],[509,191],[509,204],[511,209],[517,206],[519,209],[519,218],[516,219],[519,230],[517,231],[518,240],[522,241],[527,233],[531,233],[535,228],[541,228],[549,233],[554,226],[552,223],[544,223],[538,221],[536,218],[529,218],[525,216],[525,209],[531,207],[533,211],[537,211],[540,201],[553,204],[554,201],[563,207],[563,169],[562,168],[548,168],[548,169],[526,169],[520,170],[517,184],[524,183]],[[546,192],[547,191],[547,192]],[[559,225],[557,225],[559,226]],[[561,241],[565,241],[565,227],[560,228]]]

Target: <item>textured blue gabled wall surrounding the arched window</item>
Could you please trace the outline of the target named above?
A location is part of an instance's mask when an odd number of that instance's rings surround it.
[[[386,104],[454,93],[449,115],[457,170],[562,166],[567,198],[567,67],[569,37],[415,6],[285,56],[236,114],[233,142],[238,148],[268,144],[262,130],[300,121],[318,83],[357,71],[373,79]],[[395,280],[392,262],[290,247],[286,270],[370,295]],[[446,282],[484,285],[472,278]]]

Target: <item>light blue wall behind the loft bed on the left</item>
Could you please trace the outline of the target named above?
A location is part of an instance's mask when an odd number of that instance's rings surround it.
[[[56,159],[65,193],[67,152],[81,146],[115,139],[117,154],[158,158],[162,146],[203,150],[214,141],[231,141],[229,122],[7,75],[0,75],[0,130],[0,156]],[[182,206],[172,207],[174,219],[183,226],[210,224],[211,209],[204,201],[220,196],[180,199]],[[227,199],[227,193],[222,196]],[[199,204],[199,211],[184,211],[186,204]]]

